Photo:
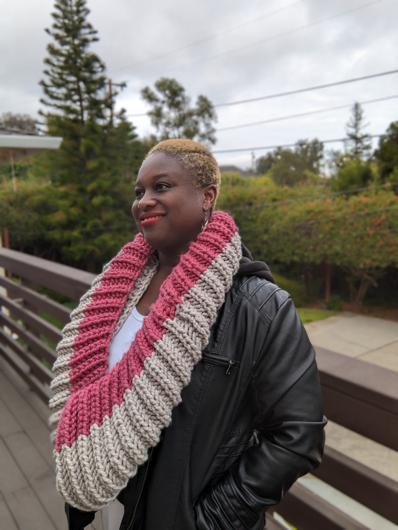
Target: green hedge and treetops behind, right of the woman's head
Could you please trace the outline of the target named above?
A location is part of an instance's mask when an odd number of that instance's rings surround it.
[[[363,119],[356,103],[328,178],[322,143],[299,140],[260,157],[257,177],[224,174],[217,203],[257,257],[302,276],[308,291],[315,268],[333,266],[356,304],[398,265],[398,121],[372,153]]]

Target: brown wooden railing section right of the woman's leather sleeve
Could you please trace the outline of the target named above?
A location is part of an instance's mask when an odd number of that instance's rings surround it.
[[[315,349],[328,419],[396,451],[398,374],[323,348]],[[335,451],[327,440],[322,464],[313,475],[398,524],[398,483]],[[370,528],[331,509],[297,483],[276,509],[297,528],[305,530]]]

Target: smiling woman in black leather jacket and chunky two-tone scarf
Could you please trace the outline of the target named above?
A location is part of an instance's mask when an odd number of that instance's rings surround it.
[[[73,530],[107,506],[109,530],[258,530],[320,463],[314,351],[289,295],[213,211],[219,184],[200,144],[151,149],[140,233],[65,327],[50,405]]]

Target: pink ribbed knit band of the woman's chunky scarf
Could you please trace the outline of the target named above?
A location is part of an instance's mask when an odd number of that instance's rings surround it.
[[[112,416],[114,405],[122,403],[123,394],[132,387],[134,376],[139,376],[143,370],[145,358],[152,355],[155,341],[165,333],[163,323],[174,318],[176,305],[223,251],[236,230],[231,217],[223,212],[211,216],[206,231],[191,243],[189,251],[182,255],[178,266],[163,283],[157,302],[151,307],[130,349],[107,373],[113,330],[153,249],[138,234],[135,241],[126,245],[112,260],[79,323],[79,334],[69,362],[72,395],[61,413],[57,452],[64,444],[72,446],[78,436],[89,435],[94,423],[101,426],[105,416]]]

